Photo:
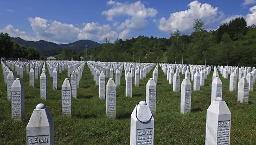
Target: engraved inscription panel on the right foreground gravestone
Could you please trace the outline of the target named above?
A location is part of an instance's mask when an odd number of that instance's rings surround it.
[[[230,120],[218,122],[217,145],[229,144]]]

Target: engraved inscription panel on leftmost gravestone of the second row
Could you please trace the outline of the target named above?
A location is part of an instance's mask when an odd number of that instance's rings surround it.
[[[21,91],[11,92],[11,116],[14,120],[21,120]]]

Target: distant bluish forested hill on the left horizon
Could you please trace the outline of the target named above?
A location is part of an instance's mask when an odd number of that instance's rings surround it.
[[[84,50],[85,45],[87,45],[87,48],[95,48],[99,47],[100,44],[98,42],[94,42],[91,40],[79,40],[73,43],[68,44],[56,44],[53,42],[48,42],[44,40],[40,41],[25,41],[24,39],[20,37],[10,37],[12,41],[16,41],[17,43],[21,45],[25,45],[25,47],[34,47],[39,50],[39,52],[44,56],[54,56],[61,53],[62,48],[66,47],[69,50]]]

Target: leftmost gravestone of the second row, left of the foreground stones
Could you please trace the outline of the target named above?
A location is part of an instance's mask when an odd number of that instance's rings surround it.
[[[11,118],[21,121],[25,117],[24,85],[16,78],[11,85]]]

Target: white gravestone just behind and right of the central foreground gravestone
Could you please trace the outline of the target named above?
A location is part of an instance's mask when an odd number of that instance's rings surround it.
[[[151,112],[156,114],[156,83],[150,78],[146,83],[146,104],[148,104]]]

